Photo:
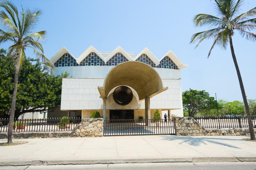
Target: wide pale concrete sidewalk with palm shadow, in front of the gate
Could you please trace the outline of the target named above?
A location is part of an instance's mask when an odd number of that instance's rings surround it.
[[[0,146],[0,165],[256,161],[256,142],[243,138],[249,137],[145,135],[13,139],[28,143]]]

